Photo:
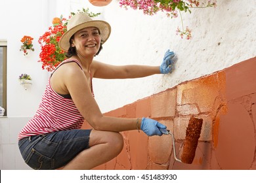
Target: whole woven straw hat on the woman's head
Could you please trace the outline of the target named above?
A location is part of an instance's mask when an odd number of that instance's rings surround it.
[[[97,27],[100,30],[102,44],[107,41],[108,37],[110,37],[111,27],[108,22],[102,20],[93,20],[88,16],[87,13],[78,13],[72,16],[72,18],[70,18],[68,21],[68,31],[62,35],[60,41],[58,42],[58,46],[60,46],[60,48],[65,52],[68,52],[68,48],[70,48],[70,38],[72,35],[86,27]]]

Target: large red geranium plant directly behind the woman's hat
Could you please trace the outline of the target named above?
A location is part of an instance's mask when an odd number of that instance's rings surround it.
[[[41,52],[39,54],[39,62],[42,63],[42,69],[53,71],[64,59],[66,59],[65,52],[60,49],[58,42],[60,37],[67,31],[68,20],[77,13],[86,12],[90,17],[98,16],[100,13],[89,12],[89,8],[77,10],[76,13],[71,12],[69,18],[53,18],[53,25],[49,27],[41,37],[39,37],[39,44],[41,45]]]

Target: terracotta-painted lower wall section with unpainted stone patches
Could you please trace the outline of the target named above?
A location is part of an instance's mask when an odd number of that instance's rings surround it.
[[[175,135],[179,159],[190,116],[203,118],[203,127],[190,165],[175,161],[171,135],[147,137],[135,130],[122,132],[121,154],[96,169],[256,169],[256,58],[105,115],[159,120]]]

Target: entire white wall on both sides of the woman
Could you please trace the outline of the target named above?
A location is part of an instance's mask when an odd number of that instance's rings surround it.
[[[246,2],[246,3],[245,3]],[[179,58],[171,75],[133,80],[94,79],[96,101],[102,112],[122,107],[177,84],[224,69],[256,56],[256,1],[219,1],[217,8],[192,9],[182,13],[184,25],[192,29],[192,40],[175,34],[181,19],[164,13],[147,16],[140,10],[120,8],[113,0],[106,7],[93,7],[86,0],[0,0],[0,39],[8,41],[8,117],[0,118],[0,169],[28,169],[16,145],[16,135],[33,116],[45,89],[49,73],[41,69],[37,40],[51,26],[54,16],[89,7],[112,25],[112,35],[95,59],[116,65],[160,65],[170,48]],[[24,58],[20,39],[34,38],[35,52]],[[28,73],[33,86],[25,91],[18,76]]]

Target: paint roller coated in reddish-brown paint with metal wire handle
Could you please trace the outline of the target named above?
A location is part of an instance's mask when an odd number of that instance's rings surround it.
[[[188,122],[188,126],[186,127],[186,138],[184,142],[181,159],[178,159],[176,156],[174,135],[170,133],[168,129],[160,129],[163,134],[172,136],[173,152],[174,152],[174,158],[176,161],[179,161],[182,163],[188,163],[188,164],[191,164],[193,162],[196,155],[196,147],[198,146],[198,139],[200,137],[202,125],[203,125],[202,118],[196,118],[194,116],[190,118]]]

